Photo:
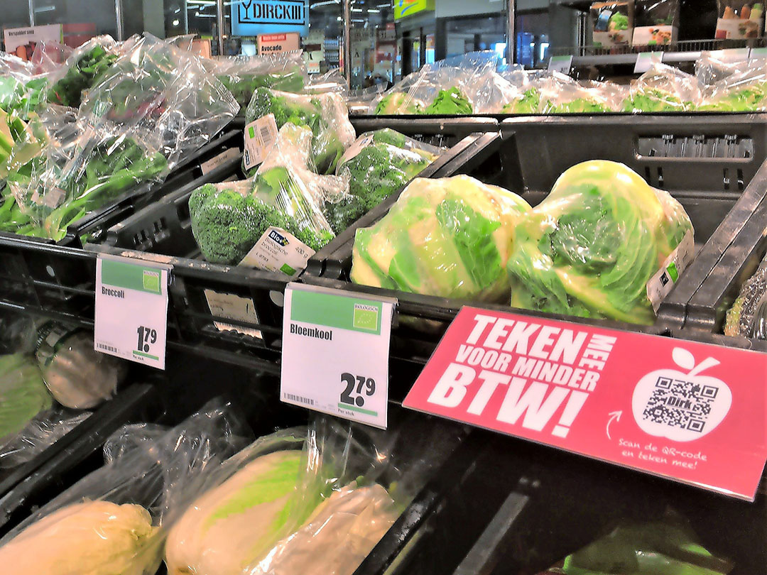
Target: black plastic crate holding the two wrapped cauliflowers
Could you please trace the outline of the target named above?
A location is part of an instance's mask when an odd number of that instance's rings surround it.
[[[690,123],[684,119],[675,122],[673,117],[636,116],[631,117],[630,124],[619,116],[591,117],[588,122],[572,117],[516,118],[502,123],[501,136],[485,134],[482,145],[478,143],[466,149],[434,177],[467,173],[483,182],[518,192],[535,205],[545,198],[561,172],[588,159],[611,159],[627,164],[650,185],[666,189],[680,201],[696,228],[695,261],[666,297],[653,326],[588,321],[618,329],[671,334],[683,326],[690,298],[726,245],[745,225],[743,213],[765,195],[756,174],[767,157],[767,118],[753,115],[738,118],[740,121],[733,117],[706,116]],[[754,183],[749,186],[752,180]],[[301,281],[397,297],[393,354],[423,363],[444,333],[446,324],[463,304],[470,302],[367,288],[348,280],[356,228],[371,225],[383,217],[393,201],[356,222],[344,233],[345,243],[333,246],[334,251],[324,259],[323,268],[308,268]],[[510,309],[494,305],[482,307]],[[587,321],[572,317],[558,319]],[[422,329],[413,329],[413,320],[421,320]],[[686,332],[677,335],[686,337]]]

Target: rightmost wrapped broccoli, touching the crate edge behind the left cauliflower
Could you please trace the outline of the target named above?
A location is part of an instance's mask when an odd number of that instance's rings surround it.
[[[417,176],[440,151],[389,128],[362,134],[336,169],[337,174],[348,173],[349,196],[325,203],[331,228],[341,233]]]

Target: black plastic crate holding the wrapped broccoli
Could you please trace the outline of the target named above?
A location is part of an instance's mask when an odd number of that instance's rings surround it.
[[[495,123],[491,126],[496,127]],[[479,134],[466,136],[435,159],[420,176],[429,177],[449,165],[480,137]],[[301,272],[289,277],[207,263],[201,258],[189,220],[189,195],[194,189],[203,183],[241,177],[239,158],[229,160],[114,225],[107,231],[103,244],[88,245],[87,249],[137,258],[160,258],[173,265],[169,294],[180,342],[199,350],[212,346],[216,353],[255,354],[276,361],[281,348],[285,285],[297,279]],[[344,234],[339,236],[343,237]],[[338,238],[314,255],[309,265],[321,268],[324,255],[337,241]],[[228,317],[231,314],[223,310],[220,313],[211,310],[211,306],[215,308],[222,301],[230,309],[231,306],[239,309],[239,320]]]

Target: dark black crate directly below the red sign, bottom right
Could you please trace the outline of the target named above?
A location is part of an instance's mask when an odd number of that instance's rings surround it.
[[[517,439],[488,441],[495,458],[478,462],[476,473],[486,476],[483,497],[507,494],[505,504],[494,510],[495,517],[459,568],[449,571],[453,575],[542,573],[620,521],[659,521],[667,511],[688,521],[716,557],[731,560],[732,575],[767,573],[763,481],[751,503]],[[524,469],[527,488],[505,481],[498,460]],[[476,508],[484,507],[479,499],[473,502]],[[445,537],[446,547],[463,543],[460,534]],[[414,555],[425,568],[410,572],[446,573],[430,570],[436,551],[420,547]]]

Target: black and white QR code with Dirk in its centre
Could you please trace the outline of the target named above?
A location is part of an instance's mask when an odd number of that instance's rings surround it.
[[[653,423],[702,433],[717,393],[717,386],[659,377],[642,416]]]

